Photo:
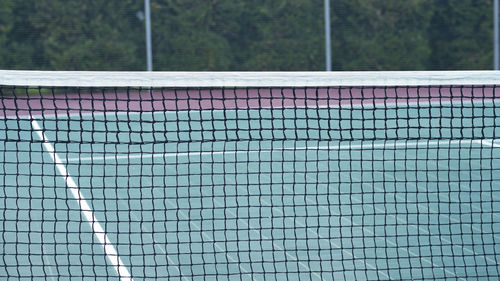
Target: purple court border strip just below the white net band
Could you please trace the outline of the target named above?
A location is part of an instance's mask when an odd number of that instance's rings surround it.
[[[0,117],[262,108],[318,108],[492,101],[493,86],[251,89],[59,89],[57,94],[6,94]]]

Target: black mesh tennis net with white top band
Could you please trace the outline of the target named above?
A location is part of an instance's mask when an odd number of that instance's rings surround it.
[[[0,71],[0,277],[498,279],[497,85]]]

